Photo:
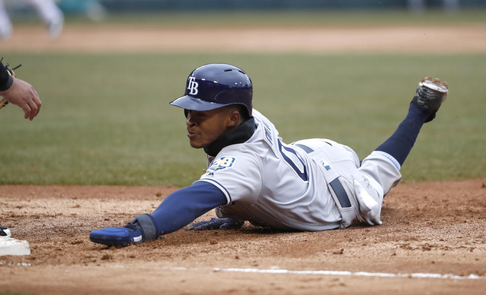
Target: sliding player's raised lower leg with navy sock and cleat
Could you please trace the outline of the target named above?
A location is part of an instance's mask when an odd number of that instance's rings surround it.
[[[446,83],[431,78],[422,80],[410,102],[407,116],[397,130],[363,160],[360,170],[375,178],[385,194],[400,180],[399,170],[412,150],[422,125],[435,118],[446,95]]]

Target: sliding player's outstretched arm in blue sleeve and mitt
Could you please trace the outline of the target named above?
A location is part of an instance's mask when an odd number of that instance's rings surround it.
[[[197,181],[178,190],[152,214],[136,216],[125,227],[109,227],[90,233],[90,240],[104,245],[138,244],[175,232],[209,210],[227,204],[225,195],[214,185]]]

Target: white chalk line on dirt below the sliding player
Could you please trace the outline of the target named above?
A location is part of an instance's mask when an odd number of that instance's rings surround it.
[[[112,265],[112,268],[125,268],[124,265]],[[371,272],[350,272],[350,271],[329,271],[329,270],[304,270],[293,271],[279,269],[257,269],[257,268],[185,268],[185,267],[141,267],[143,269],[159,269],[172,271],[202,271],[210,270],[213,272],[240,272],[240,273],[260,273],[260,274],[294,274],[294,275],[327,275],[327,276],[361,276],[361,277],[384,277],[384,278],[431,278],[431,279],[453,279],[453,280],[484,280],[486,276],[470,274],[468,276],[459,276],[453,274],[429,274],[429,273],[371,273]]]

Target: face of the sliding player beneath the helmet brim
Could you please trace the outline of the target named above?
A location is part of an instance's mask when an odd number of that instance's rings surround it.
[[[228,109],[189,110],[187,122],[189,142],[193,148],[207,148],[219,136],[233,129]]]

